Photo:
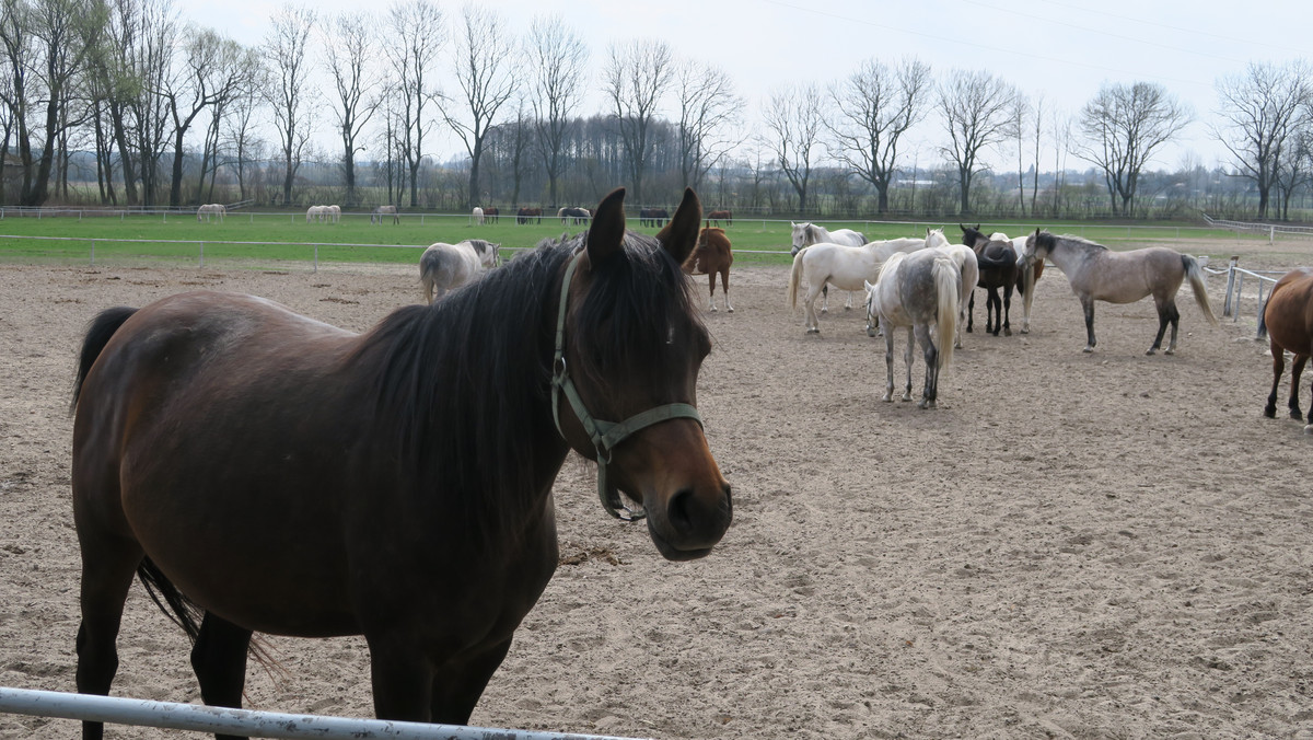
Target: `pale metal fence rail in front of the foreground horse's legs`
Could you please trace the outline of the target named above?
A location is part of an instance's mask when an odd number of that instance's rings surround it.
[[[293,740],[301,737],[318,740],[356,740],[361,737],[390,740],[626,740],[601,735],[297,715],[7,687],[0,687],[0,712]]]

